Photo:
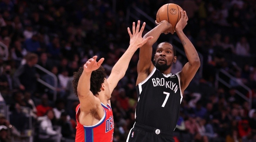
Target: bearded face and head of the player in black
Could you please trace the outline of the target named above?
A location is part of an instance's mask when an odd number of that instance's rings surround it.
[[[176,56],[173,53],[173,46],[169,43],[160,43],[156,49],[154,57],[155,66],[158,70],[164,71],[176,62]]]

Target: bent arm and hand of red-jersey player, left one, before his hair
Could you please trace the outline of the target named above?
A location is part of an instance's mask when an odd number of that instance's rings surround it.
[[[98,69],[104,61],[104,58],[101,58],[98,62],[96,59],[97,56],[94,56],[84,64],[83,73],[77,84],[77,95],[80,101],[80,109],[81,111],[88,113],[92,109],[96,109],[97,105],[100,105],[100,100],[90,91],[90,78],[92,71]]]

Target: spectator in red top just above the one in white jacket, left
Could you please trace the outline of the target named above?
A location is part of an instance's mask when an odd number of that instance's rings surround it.
[[[46,111],[48,110],[52,110],[53,108],[49,106],[49,102],[48,102],[48,96],[47,94],[44,94],[41,97],[41,104],[36,106],[36,110],[37,110],[37,116],[44,116],[44,114],[46,113]]]

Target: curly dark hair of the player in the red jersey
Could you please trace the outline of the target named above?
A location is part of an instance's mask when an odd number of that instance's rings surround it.
[[[72,86],[75,92],[75,95],[78,96],[77,94],[77,85],[78,85],[78,80],[80,76],[83,73],[84,68],[80,67],[77,72],[74,72],[74,79],[72,81]],[[92,92],[93,95],[98,94],[101,88],[101,84],[104,82],[104,79],[106,78],[106,73],[105,69],[100,66],[97,70],[92,71],[91,74],[91,79],[90,79],[90,91]]]

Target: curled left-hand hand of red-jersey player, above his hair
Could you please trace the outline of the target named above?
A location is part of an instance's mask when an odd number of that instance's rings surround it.
[[[92,72],[93,70],[96,70],[100,67],[100,65],[103,63],[104,58],[101,58],[98,62],[96,61],[98,56],[93,56],[90,58],[85,64],[84,64],[84,71],[85,72]]]

